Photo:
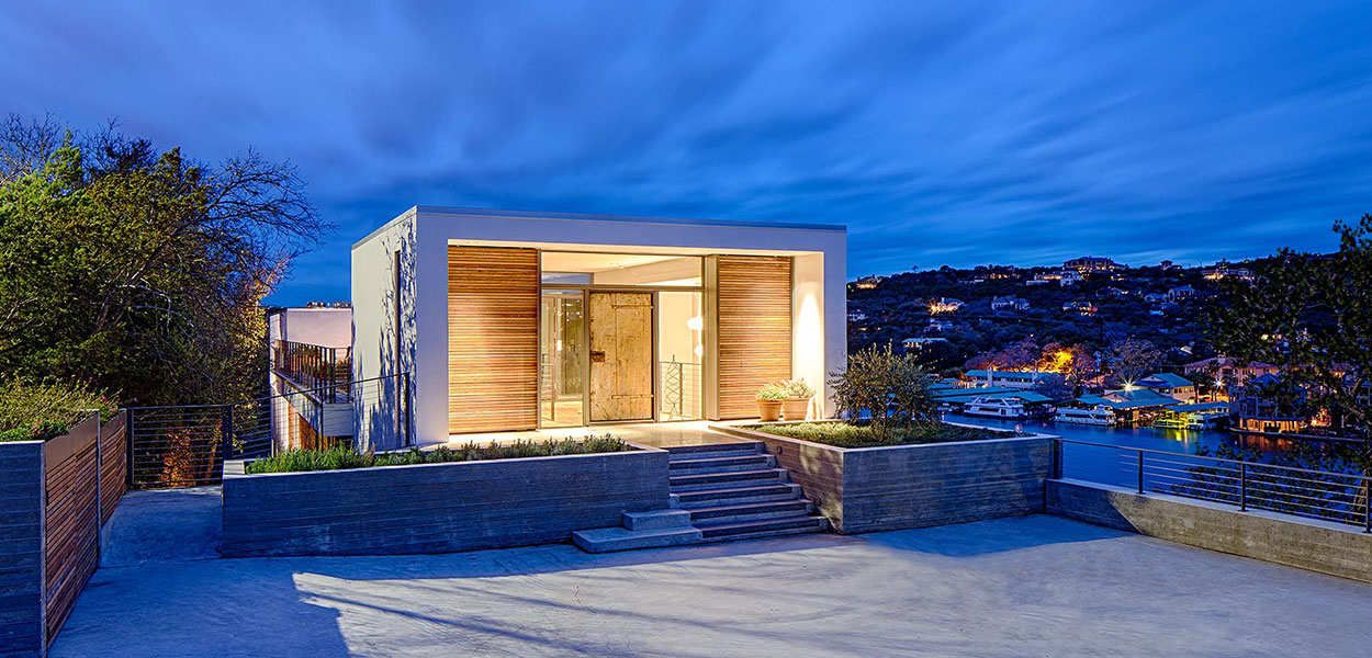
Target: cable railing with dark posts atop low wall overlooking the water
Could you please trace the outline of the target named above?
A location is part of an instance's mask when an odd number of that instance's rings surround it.
[[[1356,525],[1372,533],[1372,477],[1367,474],[1070,439],[1055,441],[1055,477],[1225,503],[1240,511],[1265,510]]]

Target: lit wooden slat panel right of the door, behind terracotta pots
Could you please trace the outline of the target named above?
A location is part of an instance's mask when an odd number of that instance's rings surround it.
[[[757,417],[757,389],[790,378],[790,258],[718,256],[719,418]]]

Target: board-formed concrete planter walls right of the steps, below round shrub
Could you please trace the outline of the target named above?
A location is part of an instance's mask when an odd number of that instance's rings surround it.
[[[786,425],[713,429],[766,444],[841,533],[1044,511],[1051,436],[841,448],[767,432]]]

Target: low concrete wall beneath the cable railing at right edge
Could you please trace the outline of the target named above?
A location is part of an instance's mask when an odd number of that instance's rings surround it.
[[[1361,528],[1080,480],[1050,480],[1047,510],[1088,524],[1372,583]]]

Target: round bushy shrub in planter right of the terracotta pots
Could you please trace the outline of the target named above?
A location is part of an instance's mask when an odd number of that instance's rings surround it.
[[[938,422],[933,376],[915,356],[896,355],[890,345],[875,345],[848,355],[848,367],[830,373],[838,413],[851,422],[866,421],[873,435],[886,443],[892,428]]]

